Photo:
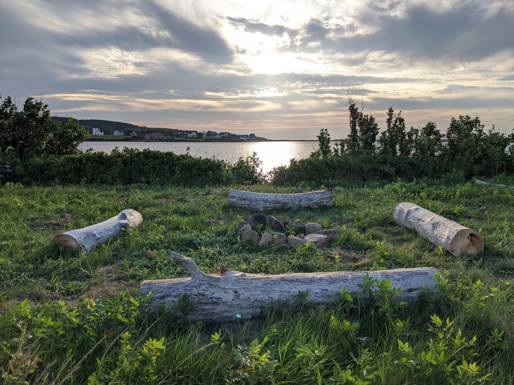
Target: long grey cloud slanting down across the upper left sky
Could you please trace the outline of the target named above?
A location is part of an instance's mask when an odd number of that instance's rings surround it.
[[[155,47],[180,49],[215,64],[232,61],[233,49],[218,31],[199,26],[173,10],[154,1],[131,2],[114,7],[113,2],[66,2],[63,8],[56,2],[44,2],[42,8],[54,13],[55,26],[41,26],[25,20],[20,9],[11,7],[2,13],[2,40],[5,47],[15,43],[23,46],[38,44],[45,48],[89,49],[117,47],[123,51],[145,51]],[[85,6],[86,15],[102,15],[99,20],[85,16],[80,28],[66,22],[68,14],[77,17]],[[91,9],[92,8],[92,9]],[[120,23],[120,18],[126,18]],[[11,31],[11,33],[7,33]],[[13,33],[15,31],[15,33]],[[32,44],[30,44],[32,43]]]

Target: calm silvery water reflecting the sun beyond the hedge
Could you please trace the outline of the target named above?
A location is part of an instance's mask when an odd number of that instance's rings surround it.
[[[92,148],[94,151],[111,152],[114,147],[137,148],[139,150],[150,148],[158,151],[172,151],[177,154],[187,152],[193,157],[215,158],[230,163],[237,162],[239,158],[251,156],[253,152],[262,162],[264,172],[271,171],[274,167],[289,164],[292,158],[307,158],[311,152],[319,147],[318,141],[308,142],[84,142],[79,148],[85,151]]]

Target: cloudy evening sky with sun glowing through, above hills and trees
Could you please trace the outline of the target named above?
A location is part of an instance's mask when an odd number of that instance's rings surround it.
[[[0,93],[52,115],[332,139],[348,95],[407,127],[514,129],[514,0],[0,0]]]

